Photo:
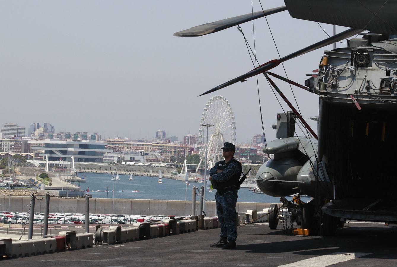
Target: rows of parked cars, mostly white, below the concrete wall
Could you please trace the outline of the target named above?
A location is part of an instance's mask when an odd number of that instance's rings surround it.
[[[117,214],[90,214],[90,224],[131,224],[149,220],[163,220],[170,217],[165,215],[117,215]],[[29,214],[22,212],[0,212],[0,223],[26,224],[29,223]],[[85,215],[79,213],[49,213],[48,224],[83,224]],[[44,213],[35,213],[33,224],[44,224]]]

